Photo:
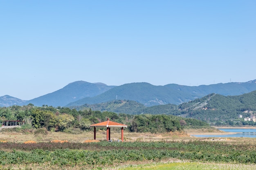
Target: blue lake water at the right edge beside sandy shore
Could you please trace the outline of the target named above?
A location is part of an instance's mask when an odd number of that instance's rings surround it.
[[[236,132],[230,135],[191,135],[194,137],[256,137],[256,129],[219,129],[225,132]]]

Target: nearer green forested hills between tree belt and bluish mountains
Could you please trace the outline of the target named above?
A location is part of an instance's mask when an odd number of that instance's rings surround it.
[[[84,104],[70,107],[77,110],[89,109],[126,114],[179,115],[206,121],[213,125],[256,125],[244,121],[256,113],[256,91],[239,96],[223,96],[215,93],[180,105],[166,104],[146,107],[131,100],[115,100],[101,104]],[[243,118],[238,116],[242,115]]]

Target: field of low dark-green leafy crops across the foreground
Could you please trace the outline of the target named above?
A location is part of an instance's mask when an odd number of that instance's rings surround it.
[[[256,165],[256,146],[225,141],[4,142],[0,169],[102,169],[137,162],[178,159],[203,163]]]

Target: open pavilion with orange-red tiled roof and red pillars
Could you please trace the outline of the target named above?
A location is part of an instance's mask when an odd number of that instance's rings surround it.
[[[97,128],[107,128],[107,141],[110,141],[110,128],[121,128],[121,140],[124,141],[124,127],[127,128],[125,124],[119,124],[114,121],[110,121],[109,118],[107,121],[100,122],[98,124],[92,124],[91,127],[94,127],[94,140],[96,140],[96,127]]]

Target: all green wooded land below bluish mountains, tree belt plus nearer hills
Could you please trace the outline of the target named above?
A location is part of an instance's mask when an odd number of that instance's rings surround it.
[[[116,100],[72,108],[44,105],[37,107],[33,104],[2,107],[0,121],[20,120],[34,128],[45,127],[47,130],[72,132],[71,128],[88,130],[90,124],[110,118],[112,121],[127,124],[128,131],[155,133],[182,130],[188,126],[207,126],[204,122],[221,126],[253,126],[256,125],[254,121],[244,121],[243,118],[238,118],[238,115],[250,117],[255,113],[256,91],[253,91],[239,96],[213,93],[179,106],[167,104],[146,107],[130,100]]]

